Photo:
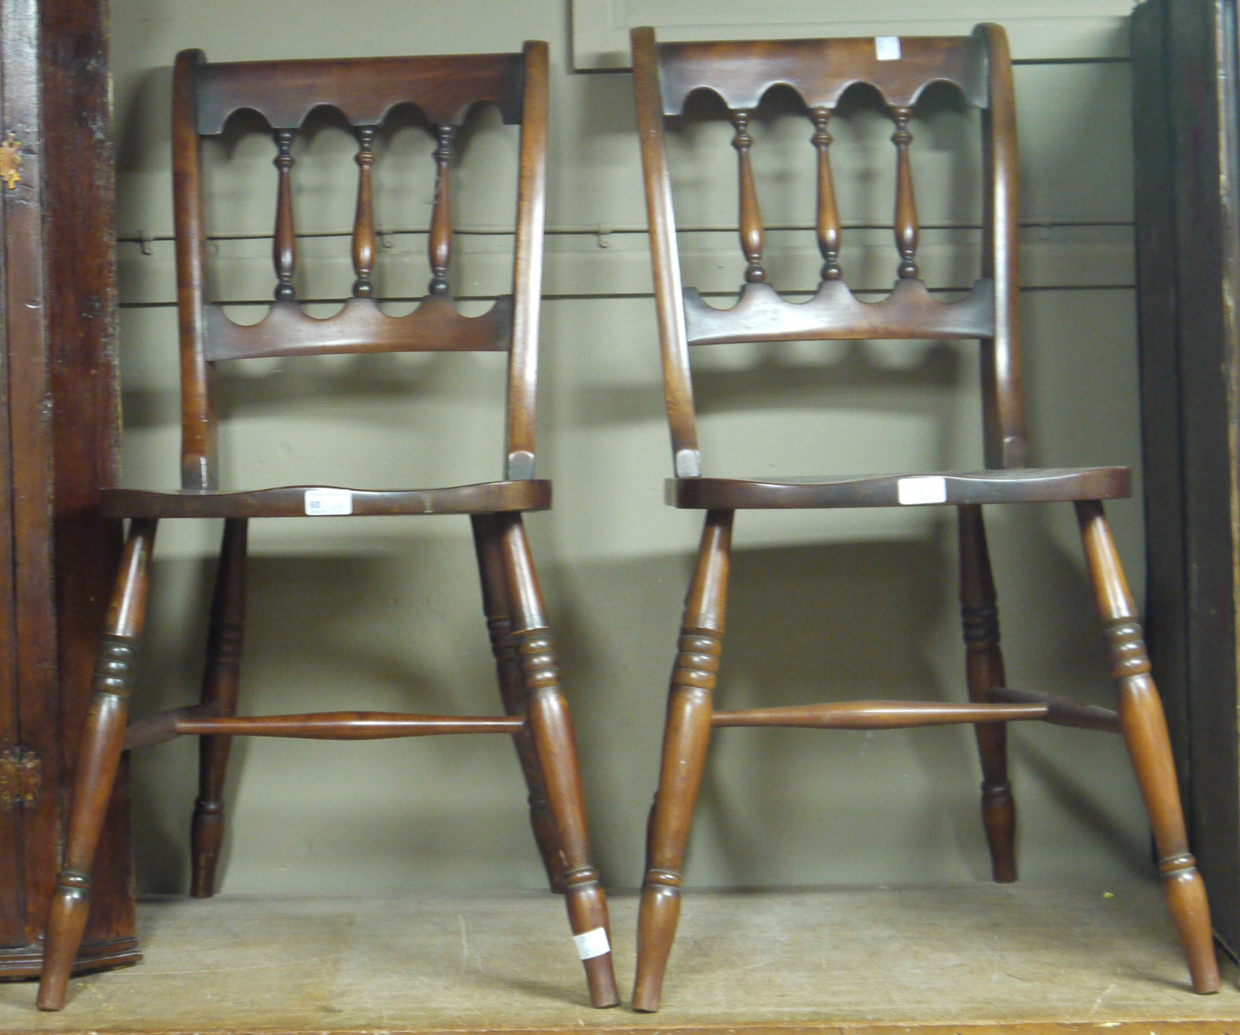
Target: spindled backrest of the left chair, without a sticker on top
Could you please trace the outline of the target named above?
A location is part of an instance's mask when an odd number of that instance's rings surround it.
[[[547,45],[521,53],[207,63],[182,51],[174,67],[172,191],[181,344],[181,485],[218,488],[215,365],[222,360],[332,352],[507,351],[505,477],[533,478],[538,303],[547,180]],[[521,125],[512,294],[480,316],[463,316],[448,293],[453,251],[454,140],[470,109],[495,104]],[[414,104],[436,139],[435,195],[428,237],[432,279],[412,313],[389,316],[374,299],[372,168],[374,135],[398,104]],[[293,285],[291,144],[311,110],[339,110],[357,135],[357,215],[352,298],[329,319],[309,316]],[[275,140],[278,187],[274,303],[257,324],[233,323],[205,298],[202,138],[219,135],[241,109],[257,112]]]

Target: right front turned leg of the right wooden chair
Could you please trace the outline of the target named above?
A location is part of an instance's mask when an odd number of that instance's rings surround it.
[[[1120,726],[1153,828],[1167,905],[1188,957],[1193,992],[1218,992],[1219,963],[1214,954],[1205,884],[1197,872],[1197,860],[1188,850],[1167,720],[1158,690],[1149,678],[1149,656],[1132,594],[1102,504],[1097,500],[1078,503],[1076,520],[1097,596],[1111,676],[1118,692]]]

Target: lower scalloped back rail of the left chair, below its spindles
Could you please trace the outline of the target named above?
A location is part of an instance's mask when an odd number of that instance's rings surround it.
[[[237,324],[219,305],[205,307],[208,360],[316,356],[342,352],[507,352],[512,295],[480,316],[463,316],[446,295],[428,295],[403,316],[373,299],[351,298],[332,316],[309,315],[296,302],[277,302],[257,324]]]

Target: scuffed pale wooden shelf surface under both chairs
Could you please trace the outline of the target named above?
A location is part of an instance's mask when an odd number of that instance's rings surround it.
[[[32,984],[0,985],[0,1030],[1221,1035],[1240,1026],[1235,968],[1218,995],[1189,992],[1153,882],[686,896],[693,908],[657,1023],[589,1008],[553,896],[428,894],[143,902],[144,964],[76,979],[57,1015],[35,1011]],[[611,900],[621,987],[635,906],[629,895]]]

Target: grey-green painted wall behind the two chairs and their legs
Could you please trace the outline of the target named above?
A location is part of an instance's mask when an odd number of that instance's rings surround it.
[[[568,0],[113,0],[113,20],[124,479],[150,488],[175,486],[179,449],[167,132],[175,52],[193,46],[228,61],[549,41],[539,473],[556,480],[556,509],[528,527],[574,710],[595,859],[610,885],[635,886],[699,516],[662,504],[671,464],[630,77],[568,71]],[[1033,61],[1016,78],[1033,462],[1138,467],[1128,66]],[[976,263],[971,128],[947,102],[914,125],[919,207],[937,227],[923,235],[931,287],[967,284]],[[755,133],[764,213],[789,227],[769,241],[774,280],[786,290],[816,282],[810,132],[804,118],[784,115]],[[890,125],[861,110],[833,132],[852,227],[846,272],[856,287],[879,289],[894,274],[889,231],[857,225],[890,218]],[[717,293],[733,290],[743,268],[727,230],[735,213],[728,135],[707,127],[689,143],[713,164],[678,166],[686,279]],[[429,151],[412,128],[384,143],[379,284],[388,297],[418,295],[425,283]],[[453,283],[475,299],[466,307],[484,307],[511,276],[513,153],[512,133],[479,135],[458,172]],[[262,240],[274,208],[272,154],[263,135],[228,155],[211,151],[213,292],[238,304],[239,319],[257,319],[272,285]],[[352,145],[327,124],[298,154],[306,235],[298,285],[330,311],[352,278]],[[497,359],[234,365],[221,386],[224,483],[373,488],[498,477]],[[720,347],[702,356],[698,382],[707,473],[975,468],[977,383],[971,345]],[[992,511],[1011,683],[1106,701],[1070,509]],[[1111,514],[1140,598],[1140,501]],[[195,699],[218,532],[212,522],[165,522],[160,532],[139,714]],[[936,508],[742,514],[719,702],[961,699],[954,540],[952,515]],[[496,710],[464,519],[273,520],[257,522],[252,545],[246,712]],[[186,886],[195,752],[184,740],[134,759],[143,890]],[[1013,727],[1012,758],[1025,877],[1149,871],[1118,738]],[[698,807],[689,884],[983,879],[978,781],[967,728],[724,731]],[[503,738],[239,741],[228,800],[228,892],[542,882]]]

